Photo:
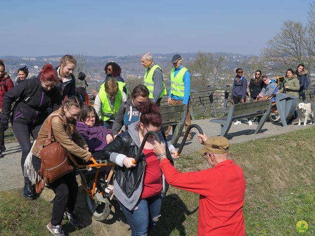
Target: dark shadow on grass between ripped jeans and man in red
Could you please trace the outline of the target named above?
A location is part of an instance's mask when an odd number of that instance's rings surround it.
[[[175,230],[178,231],[178,235],[186,236],[183,223],[186,216],[193,214],[196,210],[198,210],[198,207],[189,211],[177,194],[167,195],[163,198],[159,223],[152,230],[150,236],[170,236]]]

